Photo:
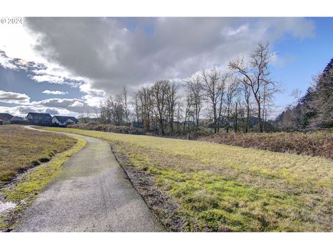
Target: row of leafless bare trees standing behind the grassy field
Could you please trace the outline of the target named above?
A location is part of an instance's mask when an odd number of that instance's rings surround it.
[[[228,68],[202,70],[182,82],[158,80],[129,94],[124,87],[99,109],[108,124],[132,124],[161,135],[210,129],[265,131],[280,85],[271,79],[273,53],[258,44],[248,59],[238,57]]]

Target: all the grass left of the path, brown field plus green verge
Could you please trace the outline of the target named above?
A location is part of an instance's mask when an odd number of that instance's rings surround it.
[[[0,138],[0,175],[4,179],[0,201],[15,204],[15,208],[0,214],[1,232],[10,231],[19,224],[22,211],[59,174],[70,156],[85,146],[86,141],[82,138],[28,130],[17,125],[0,127]],[[44,163],[39,165],[42,162]],[[38,167],[23,172],[15,181],[8,183],[17,172],[28,169],[31,165]]]

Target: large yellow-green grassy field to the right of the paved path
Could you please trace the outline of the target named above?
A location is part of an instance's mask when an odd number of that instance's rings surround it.
[[[108,140],[178,203],[185,231],[333,231],[333,161],[210,142],[47,128]]]

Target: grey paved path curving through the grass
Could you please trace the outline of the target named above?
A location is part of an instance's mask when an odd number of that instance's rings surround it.
[[[65,163],[62,172],[24,213],[18,232],[160,232],[148,209],[103,140]]]

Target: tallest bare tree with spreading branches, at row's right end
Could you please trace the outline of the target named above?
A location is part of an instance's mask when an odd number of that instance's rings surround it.
[[[269,52],[269,44],[258,44],[257,48],[250,53],[250,62],[246,64],[244,58],[236,59],[229,63],[229,68],[242,76],[244,84],[250,89],[257,103],[257,118],[259,131],[262,127],[262,105],[266,106],[266,101],[272,98],[273,93],[279,89],[277,82],[271,80],[271,72],[268,69],[273,58],[273,53]],[[264,113],[264,111],[263,111]]]

